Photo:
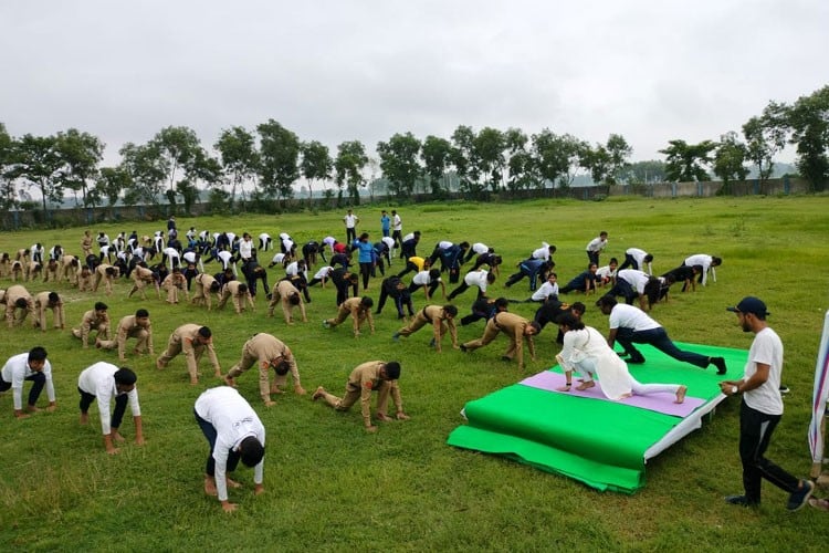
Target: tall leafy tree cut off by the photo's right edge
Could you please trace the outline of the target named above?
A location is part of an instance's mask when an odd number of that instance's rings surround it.
[[[787,113],[791,144],[797,146],[797,168],[816,191],[829,181],[829,86],[800,96]]]

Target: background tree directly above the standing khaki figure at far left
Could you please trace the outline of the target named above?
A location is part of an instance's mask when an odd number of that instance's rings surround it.
[[[57,133],[56,142],[57,152],[63,160],[60,170],[63,187],[75,195],[80,191],[84,207],[96,206],[99,197],[91,194],[91,187],[97,176],[98,164],[104,157],[104,144],[96,136],[76,128]]]

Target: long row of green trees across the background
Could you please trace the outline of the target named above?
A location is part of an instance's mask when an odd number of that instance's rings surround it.
[[[448,175],[460,191],[480,196],[503,189],[521,190],[570,186],[579,173],[595,182],[648,182],[654,180],[709,180],[709,170],[726,186],[744,179],[748,165],[768,178],[773,159],[787,144],[797,147],[797,167],[816,190],[829,177],[829,86],[794,104],[770,102],[763,113],[718,142],[688,144],[670,140],[660,150],[665,161],[629,161],[632,148],[625,137],[611,134],[605,144],[590,145],[569,134],[547,128],[527,135],[518,128],[499,131],[459,126],[450,138],[411,133],[395,134],[377,144],[369,157],[359,140],[344,142],[335,156],[317,140],[303,142],[279,122],[270,119],[255,132],[232,127],[221,132],[214,155],[188,127],[167,127],[143,145],[125,144],[115,167],[99,167],[104,144],[95,136],[69,129],[53,136],[27,134],[14,138],[0,123],[0,208],[20,204],[18,187],[35,188],[48,202],[60,204],[66,194],[78,206],[107,201],[174,206],[186,210],[200,188],[214,200],[233,202],[246,188],[252,199],[284,200],[294,195],[300,178],[309,194],[317,184],[336,184],[338,198],[359,202],[359,190],[378,177],[388,192],[408,198],[418,187],[441,197],[449,191]],[[201,186],[200,186],[201,185]],[[371,188],[369,188],[371,190]],[[326,192],[333,196],[333,191]]]

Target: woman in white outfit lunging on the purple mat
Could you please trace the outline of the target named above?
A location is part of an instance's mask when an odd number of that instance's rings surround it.
[[[688,387],[680,384],[640,384],[628,372],[628,365],[613,352],[599,331],[585,326],[573,313],[558,319],[558,327],[564,333],[564,348],[556,361],[564,369],[567,384],[557,388],[569,392],[573,386],[573,372],[578,373],[581,384],[578,390],[596,386],[598,376],[601,392],[608,399],[619,400],[630,396],[644,396],[668,392],[676,395],[675,404],[685,400]]]

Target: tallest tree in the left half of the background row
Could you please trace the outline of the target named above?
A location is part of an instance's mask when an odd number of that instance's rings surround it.
[[[260,137],[260,177],[267,197],[291,198],[300,178],[300,137],[274,119],[256,126]]]

